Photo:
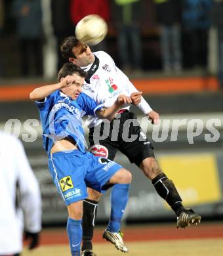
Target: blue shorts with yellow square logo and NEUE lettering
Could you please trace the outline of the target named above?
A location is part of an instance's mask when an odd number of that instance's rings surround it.
[[[122,168],[106,158],[79,150],[56,152],[49,156],[49,170],[66,205],[87,198],[87,186],[104,193],[111,177]]]

